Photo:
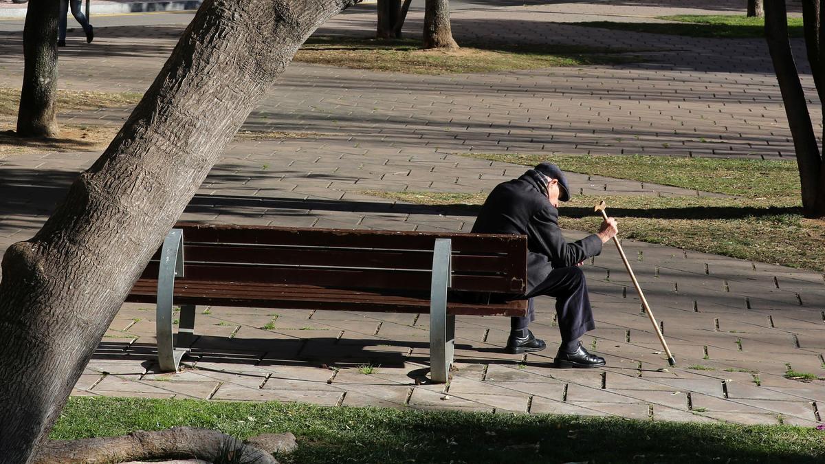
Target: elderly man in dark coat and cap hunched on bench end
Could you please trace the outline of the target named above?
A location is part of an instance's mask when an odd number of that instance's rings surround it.
[[[533,297],[556,299],[562,343],[556,367],[601,367],[602,357],[587,353],[579,338],[596,327],[587,282],[581,266],[585,259],[601,253],[601,245],[618,230],[613,218],[601,223],[596,234],[568,243],[559,229],[559,201],[570,199],[570,188],[555,164],[540,163],[520,178],[503,182],[490,192],[475,220],[473,232],[480,234],[521,234],[527,236],[527,291],[518,298],[529,299],[526,317],[514,317],[507,339],[508,353],[540,351],[546,347],[536,339],[528,324],[535,320]]]

